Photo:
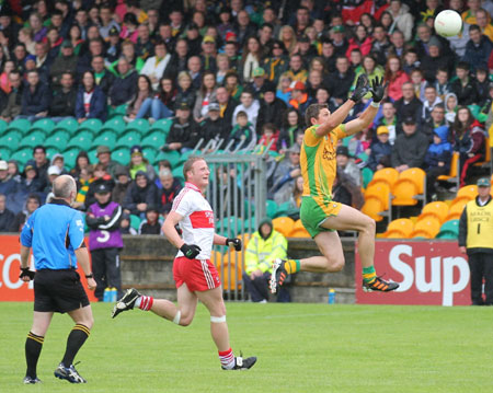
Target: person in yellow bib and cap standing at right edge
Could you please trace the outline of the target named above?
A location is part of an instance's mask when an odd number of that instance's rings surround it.
[[[491,181],[478,181],[478,196],[468,201],[459,220],[459,250],[471,269],[472,305],[493,305],[493,203]],[[483,299],[482,288],[484,279]]]

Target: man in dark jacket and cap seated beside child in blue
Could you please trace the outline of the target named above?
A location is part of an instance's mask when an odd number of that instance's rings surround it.
[[[402,129],[404,132],[397,137],[391,155],[391,164],[398,172],[423,166],[428,148],[428,139],[416,129],[413,117],[404,119]]]

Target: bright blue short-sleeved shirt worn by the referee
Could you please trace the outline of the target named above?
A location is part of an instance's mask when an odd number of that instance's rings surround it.
[[[58,198],[34,211],[21,232],[21,244],[33,247],[36,270],[77,268],[73,251],[83,242],[81,212]]]

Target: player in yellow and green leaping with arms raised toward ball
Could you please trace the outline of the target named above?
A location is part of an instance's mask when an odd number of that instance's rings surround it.
[[[368,92],[371,92],[372,103],[358,118],[342,124],[353,106]],[[359,132],[371,124],[383,93],[381,80],[375,79],[370,89],[368,79],[363,74],[351,99],[333,114],[324,104],[312,104],[307,108],[305,118],[311,126],[305,131],[300,155],[303,176],[300,219],[323,256],[276,259],[271,278],[273,293],[276,293],[287,275],[296,271],[340,271],[344,267],[344,253],[336,231],[348,230],[359,232],[364,289],[387,292],[399,288],[397,282],[386,281],[375,273],[375,221],[349,206],[332,200],[337,140]]]

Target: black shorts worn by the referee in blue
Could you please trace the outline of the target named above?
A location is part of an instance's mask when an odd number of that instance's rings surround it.
[[[76,269],[41,269],[34,278],[34,311],[69,312],[89,305]]]

